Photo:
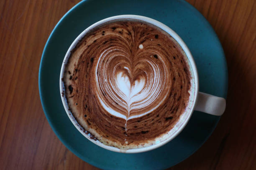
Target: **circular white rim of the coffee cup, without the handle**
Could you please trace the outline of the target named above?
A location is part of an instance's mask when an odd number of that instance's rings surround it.
[[[179,35],[176,32],[174,32],[174,30],[172,30],[167,25],[164,25],[163,23],[161,23],[157,20],[154,20],[154,19],[148,18],[148,17],[144,17],[144,16],[141,16],[141,15],[116,15],[116,16],[113,16],[113,17],[105,18],[103,20],[98,21],[97,23],[94,23],[94,24],[90,25],[88,28],[86,28],[83,32],[81,32],[77,36],[77,38],[72,42],[69,49],[67,50],[67,53],[64,57],[62,65],[61,65],[60,80],[59,80],[60,94],[63,94],[63,92],[65,90],[64,83],[63,83],[62,80],[63,80],[63,77],[64,77],[64,70],[65,70],[65,67],[67,65],[67,60],[68,60],[68,58],[71,54],[71,51],[77,45],[79,40],[81,40],[87,34],[87,32],[90,32],[90,30],[94,29],[95,27],[97,27],[99,25],[102,25],[102,24],[105,24],[105,23],[108,23],[108,22],[111,22],[111,21],[114,21],[114,20],[129,20],[129,19],[130,20],[141,20],[143,22],[150,23],[150,24],[155,25],[156,27],[161,28],[162,30],[167,32],[169,35],[171,35],[179,43],[179,45],[182,47],[182,50],[184,50],[185,54],[187,55],[187,58],[188,58],[189,63],[190,63],[190,67],[191,67],[191,69],[193,71],[193,75],[194,75],[193,77],[194,77],[194,81],[195,81],[195,97],[194,97],[194,102],[192,104],[192,107],[189,111],[189,114],[186,117],[186,119],[184,120],[184,122],[182,123],[182,125],[179,127],[179,129],[172,136],[170,136],[169,138],[167,138],[164,141],[161,141],[158,144],[153,144],[153,145],[143,147],[143,148],[122,150],[122,149],[115,148],[115,147],[112,147],[112,146],[104,145],[99,140],[93,140],[92,138],[90,138],[90,136],[88,134],[84,133],[84,129],[82,128],[81,125],[79,125],[77,120],[74,118],[74,116],[70,112],[69,107],[67,105],[67,99],[66,99],[65,95],[61,95],[61,100],[62,100],[64,109],[65,109],[69,119],[73,123],[73,125],[77,128],[77,130],[80,133],[82,133],[82,135],[84,135],[84,137],[86,137],[92,143],[95,143],[96,145],[98,145],[98,146],[100,146],[104,149],[111,150],[111,151],[118,152],[118,153],[142,153],[142,152],[146,152],[146,151],[149,151],[149,150],[159,148],[159,147],[165,145],[166,143],[170,142],[171,140],[173,140],[184,129],[184,127],[187,125],[187,123],[188,123],[188,121],[189,121],[189,119],[190,119],[190,117],[191,117],[191,115],[194,111],[195,104],[197,103],[197,95],[198,95],[198,91],[199,91],[199,80],[198,80],[198,72],[197,72],[197,67],[195,65],[195,60],[192,57],[192,54],[191,54],[189,48],[187,47],[187,45],[185,44],[185,42],[182,40],[181,37],[179,37]]]

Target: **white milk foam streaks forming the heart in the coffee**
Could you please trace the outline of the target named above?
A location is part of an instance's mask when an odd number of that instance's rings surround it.
[[[139,115],[130,116],[131,110],[138,110],[140,108],[145,108],[148,105],[150,105],[152,102],[154,102],[157,97],[159,97],[159,94],[162,88],[164,87],[163,85],[161,85],[161,83],[165,84],[166,74],[163,74],[163,72],[161,72],[160,67],[159,65],[157,65],[156,62],[152,62],[152,60],[144,59],[143,62],[147,62],[147,64],[151,66],[151,71],[154,72],[154,74],[148,75],[145,72],[146,77],[141,76],[140,79],[135,80],[135,82],[133,82],[133,85],[132,85],[128,75],[126,75],[125,73],[125,70],[127,70],[128,73],[131,73],[131,71],[128,67],[123,67],[123,70],[124,70],[123,72],[118,72],[116,75],[113,76],[115,79],[114,84],[108,81],[109,77],[104,77],[104,81],[102,84],[102,82],[100,82],[99,77],[97,75],[100,61],[102,61],[105,57],[108,57],[109,59],[108,62],[110,62],[110,60],[116,56],[115,55],[108,56],[108,54],[110,52],[113,52],[114,50],[115,49],[113,49],[113,47],[112,48],[110,47],[109,49],[106,49],[104,52],[102,52],[102,54],[100,55],[97,61],[96,69],[95,69],[95,80],[97,82],[96,83],[97,89],[107,87],[108,95],[112,98],[113,102],[117,102],[118,105],[125,108],[125,110],[127,110],[128,112],[128,116],[121,114],[120,112],[116,111],[115,108],[108,105],[108,103],[104,101],[104,98],[99,92],[97,92],[97,98],[99,99],[102,107],[107,112],[109,112],[111,115],[114,115],[116,117],[123,118],[127,122],[127,120],[129,119],[146,115],[152,112],[153,110],[155,110],[157,107],[159,107],[159,105],[161,105],[161,103],[166,98],[167,94],[164,97],[162,97],[161,100],[159,100],[158,104],[155,107],[151,108],[150,110],[146,112],[141,112],[141,114]],[[123,57],[128,58],[128,56],[123,56]],[[161,60],[160,55],[158,56],[158,58],[159,60]],[[108,62],[106,62],[105,65],[107,65]],[[161,62],[164,65],[164,61],[161,60]],[[105,72],[104,70],[107,69],[105,68],[105,65],[103,66],[103,68],[100,68],[100,69],[103,69],[103,72]],[[115,66],[114,70],[116,69],[116,67],[117,66]],[[167,72],[166,68],[167,67],[164,66],[164,69],[165,69],[164,73]],[[149,81],[146,82],[146,80],[149,80]],[[109,90],[110,88],[108,87],[112,87],[113,91]],[[116,96],[113,92],[115,92],[115,94],[118,94],[118,96]],[[123,99],[123,100],[120,100],[120,99]],[[125,101],[125,103],[122,101]]]

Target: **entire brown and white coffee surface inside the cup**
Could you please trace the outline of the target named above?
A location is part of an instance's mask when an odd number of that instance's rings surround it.
[[[95,140],[140,148],[171,130],[189,101],[187,57],[148,23],[115,21],[91,30],[67,62],[69,109]]]

